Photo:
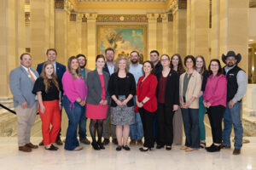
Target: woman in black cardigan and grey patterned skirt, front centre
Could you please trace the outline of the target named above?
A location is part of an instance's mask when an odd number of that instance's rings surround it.
[[[136,92],[136,82],[129,73],[128,59],[120,57],[115,63],[115,71],[108,83],[108,94],[111,96],[111,122],[116,125],[118,140],[117,151],[130,150],[127,140],[130,125],[135,123],[133,96]],[[123,143],[122,143],[123,138]]]

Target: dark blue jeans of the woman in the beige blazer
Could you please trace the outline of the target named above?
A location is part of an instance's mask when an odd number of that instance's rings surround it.
[[[199,148],[199,109],[181,108],[183,114],[183,126],[186,135],[185,145],[190,148]]]

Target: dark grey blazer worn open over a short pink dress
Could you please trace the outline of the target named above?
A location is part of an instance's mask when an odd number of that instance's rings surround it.
[[[107,72],[103,71],[104,83],[105,83],[105,94],[106,99],[109,102],[109,94],[108,94],[108,82],[109,75]],[[88,95],[86,99],[86,103],[91,105],[98,105],[102,100],[102,83],[99,77],[99,74],[96,70],[90,71],[87,77],[87,87],[88,87]]]

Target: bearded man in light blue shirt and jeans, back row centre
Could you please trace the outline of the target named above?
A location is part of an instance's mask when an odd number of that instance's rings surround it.
[[[131,57],[131,65],[130,70],[131,74],[135,78],[135,82],[137,84],[137,81],[139,77],[143,76],[143,65],[139,64],[138,60],[140,58],[139,53],[137,51],[132,51],[130,53]],[[136,104],[135,96],[133,97],[134,103]],[[130,125],[130,145],[132,144],[143,144],[143,123],[141,120],[141,116],[138,112],[135,112],[135,123]]]

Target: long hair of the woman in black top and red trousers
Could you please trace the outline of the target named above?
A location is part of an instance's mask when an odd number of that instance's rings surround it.
[[[44,78],[45,93],[47,94],[49,87],[50,87],[49,78],[46,76],[46,73],[45,73],[45,68],[47,65],[52,65],[53,73],[51,74],[51,77],[52,77],[51,81],[54,83],[55,87],[60,91],[59,82],[58,82],[57,76],[55,74],[55,67],[50,61],[46,61],[43,65],[43,71],[41,72],[41,75],[40,75],[40,77]]]

